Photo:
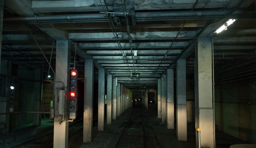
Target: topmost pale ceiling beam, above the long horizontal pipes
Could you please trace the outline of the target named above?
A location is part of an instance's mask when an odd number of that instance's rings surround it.
[[[135,10],[165,10],[165,9],[191,9],[194,1],[187,0],[172,0],[172,1],[136,1],[129,0]],[[196,8],[221,8],[227,6],[229,0],[211,0],[211,2],[199,1]],[[108,9],[113,11],[112,6],[122,5],[121,1],[107,2]],[[111,6],[110,6],[111,5]],[[59,0],[59,1],[36,1],[33,0],[32,8],[36,12],[74,12],[74,11],[103,11],[99,0],[91,0],[84,2],[84,0]]]

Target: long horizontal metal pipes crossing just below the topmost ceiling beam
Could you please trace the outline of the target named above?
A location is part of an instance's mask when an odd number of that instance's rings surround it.
[[[232,14],[233,15],[239,15],[242,14],[243,11],[237,10],[234,11]],[[175,11],[175,12],[136,12],[135,13],[135,18],[136,19],[141,19],[145,18],[145,21],[151,21],[152,18],[165,18],[165,19],[170,19],[170,18],[176,18],[176,17],[183,17],[185,20],[186,19],[202,19],[202,17],[220,17],[223,15],[228,14],[226,10],[220,11],[220,10],[215,10],[215,11]],[[255,12],[248,13],[248,17],[250,16],[255,16]],[[191,17],[191,18],[190,18]],[[105,17],[105,14],[68,14],[68,15],[42,15],[42,16],[21,16],[21,17],[6,17],[3,18],[4,22],[27,22],[27,23],[50,23],[50,22],[55,22],[55,21],[63,21],[64,22],[69,22],[75,23],[76,21],[86,21],[86,20],[101,20],[104,22],[108,22],[108,18]]]

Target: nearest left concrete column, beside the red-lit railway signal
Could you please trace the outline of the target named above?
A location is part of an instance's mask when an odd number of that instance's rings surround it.
[[[67,87],[67,80],[69,76],[69,63],[70,50],[68,49],[68,41],[60,40],[56,41],[56,68],[55,68],[55,81],[61,81],[64,83],[64,87]],[[62,83],[55,83],[55,109],[58,110],[58,89],[62,88]],[[54,136],[53,136],[53,147],[54,148],[64,148],[68,146],[68,122],[56,121],[60,117],[56,115],[58,113],[55,110],[54,119]]]

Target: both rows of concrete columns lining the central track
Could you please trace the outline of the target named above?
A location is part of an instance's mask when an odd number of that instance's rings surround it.
[[[57,41],[59,43],[67,41]],[[63,43],[63,44],[64,44]],[[67,55],[63,55],[63,48],[68,51],[67,46],[56,48],[56,61],[68,61]],[[60,55],[58,55],[60,54]],[[66,58],[65,58],[66,57]],[[67,62],[68,63],[68,62]],[[61,66],[60,66],[61,65]],[[176,119],[177,138],[187,140],[187,111],[186,111],[186,60],[180,59],[176,63]],[[56,62],[56,81],[67,82],[67,68],[63,62]],[[93,75],[94,63],[92,59],[85,60],[84,77],[84,136],[83,142],[92,141],[92,119],[93,119]],[[65,71],[65,72],[64,72]],[[158,118],[167,125],[168,129],[174,129],[174,76],[173,69],[168,69],[166,75],[158,79]],[[198,38],[195,46],[195,129],[201,130],[201,146],[214,148],[214,108],[212,100],[212,38]],[[99,91],[98,91],[98,130],[104,130],[104,104],[107,104],[107,124],[112,119],[120,116],[128,107],[132,106],[130,90],[122,84],[117,83],[116,78],[107,75],[107,94],[105,98],[105,71],[99,69]],[[147,93],[145,93],[147,94]],[[146,96],[145,96],[146,97]],[[147,102],[145,102],[147,103]],[[68,124],[66,122],[55,122],[54,125],[54,147],[66,147]],[[57,135],[57,136],[56,136]],[[64,142],[65,141],[65,142]],[[60,145],[61,144],[61,145]],[[57,146],[58,145],[58,146]],[[196,135],[196,145],[198,139]]]

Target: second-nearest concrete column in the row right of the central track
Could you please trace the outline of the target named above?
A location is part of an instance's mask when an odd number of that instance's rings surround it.
[[[177,139],[187,141],[186,60],[176,62]]]

